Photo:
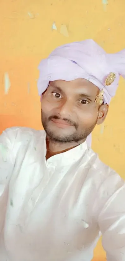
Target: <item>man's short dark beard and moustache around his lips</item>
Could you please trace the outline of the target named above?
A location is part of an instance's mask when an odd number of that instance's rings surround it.
[[[73,133],[60,133],[56,132],[55,130],[51,129],[51,126],[49,126],[49,122],[51,119],[60,119],[60,117],[53,115],[50,117],[46,117],[45,114],[41,111],[41,119],[42,119],[42,125],[43,128],[48,136],[48,138],[51,141],[58,142],[58,143],[68,143],[68,142],[80,142],[82,140],[86,140],[87,136],[93,131],[93,129],[96,126],[96,122],[93,123],[90,127],[88,128],[81,128],[79,129],[79,125],[76,124],[75,122],[69,120],[69,119],[63,119],[65,122],[71,124],[74,127],[74,132]],[[61,130],[61,129],[60,129]]]

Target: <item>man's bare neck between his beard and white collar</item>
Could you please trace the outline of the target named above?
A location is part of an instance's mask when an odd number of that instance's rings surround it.
[[[46,159],[50,158],[51,156],[54,156],[59,153],[63,153],[65,151],[71,150],[74,147],[77,147],[81,143],[85,142],[86,139],[81,140],[79,142],[65,142],[65,143],[60,143],[60,142],[54,142],[50,140],[48,137],[46,139],[46,144],[47,144],[47,154],[46,154]]]

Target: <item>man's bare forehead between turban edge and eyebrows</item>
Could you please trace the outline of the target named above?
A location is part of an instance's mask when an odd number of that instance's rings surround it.
[[[49,86],[60,88],[60,90],[64,93],[70,92],[70,95],[83,93],[89,96],[96,96],[100,91],[99,88],[92,82],[89,82],[88,80],[82,78],[78,78],[69,82],[64,80],[56,80],[50,82]]]

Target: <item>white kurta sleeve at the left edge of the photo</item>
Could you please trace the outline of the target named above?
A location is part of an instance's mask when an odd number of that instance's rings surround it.
[[[15,164],[14,142],[15,132],[11,128],[0,135],[0,233],[5,218],[9,182]]]

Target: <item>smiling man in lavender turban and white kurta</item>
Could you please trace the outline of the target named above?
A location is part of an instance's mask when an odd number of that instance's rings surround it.
[[[39,70],[45,131],[0,136],[0,261],[90,261],[100,233],[107,260],[124,261],[125,183],[90,135],[125,77],[125,50],[66,44]]]

